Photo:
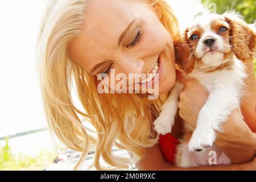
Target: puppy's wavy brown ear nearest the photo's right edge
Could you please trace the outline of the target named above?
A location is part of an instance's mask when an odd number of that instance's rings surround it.
[[[230,44],[234,54],[241,61],[251,61],[255,55],[256,29],[233,12],[224,14],[231,27]]]

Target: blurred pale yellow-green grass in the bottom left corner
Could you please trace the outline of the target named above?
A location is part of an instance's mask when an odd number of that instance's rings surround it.
[[[43,170],[56,158],[56,152],[40,151],[36,156],[13,154],[8,143],[0,148],[0,171],[1,170]]]

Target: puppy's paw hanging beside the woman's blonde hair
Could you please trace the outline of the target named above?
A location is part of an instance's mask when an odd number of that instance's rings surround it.
[[[154,129],[157,133],[165,135],[167,133],[171,133],[173,124],[174,117],[168,117],[164,114],[160,114],[154,122]]]

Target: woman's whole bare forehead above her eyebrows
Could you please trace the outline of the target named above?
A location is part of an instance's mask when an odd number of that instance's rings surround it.
[[[88,68],[91,67],[88,60],[96,63],[102,61],[102,57],[105,59],[112,55],[118,48],[119,36],[128,24],[143,15],[142,7],[146,6],[137,1],[90,1],[86,7],[83,30],[69,46],[71,59]]]

